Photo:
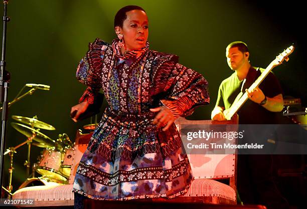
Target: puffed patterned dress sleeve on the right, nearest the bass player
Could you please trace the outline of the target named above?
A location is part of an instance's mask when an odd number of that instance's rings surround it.
[[[208,82],[198,72],[178,63],[178,57],[163,53],[154,70],[155,94],[175,116],[186,117],[194,108],[209,104]]]

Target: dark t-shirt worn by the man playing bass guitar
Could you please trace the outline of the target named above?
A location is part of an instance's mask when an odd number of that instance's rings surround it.
[[[260,75],[264,69],[250,68],[246,76],[246,81],[244,84],[244,89],[248,88]],[[216,106],[225,107],[225,109],[230,108],[235,98],[241,91],[243,80],[240,81],[238,76],[234,72],[230,77],[222,81]],[[282,94],[280,84],[273,73],[269,73],[264,81],[259,85],[266,97],[274,97],[278,94]],[[247,100],[245,104],[237,112],[239,115],[239,124],[276,124],[276,112],[271,112],[262,107],[261,105]]]

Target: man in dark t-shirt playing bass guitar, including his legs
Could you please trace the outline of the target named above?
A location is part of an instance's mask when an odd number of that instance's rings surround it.
[[[248,90],[264,69],[251,66],[247,45],[241,41],[227,46],[226,58],[234,73],[222,81],[211,118],[226,120],[227,110],[246,91],[248,99],[237,111],[239,124],[276,124],[276,116],[283,109],[283,98],[273,73],[259,87]],[[272,155],[238,155],[237,187],[243,203],[264,204],[268,209],[288,208],[272,180],[271,165]]]

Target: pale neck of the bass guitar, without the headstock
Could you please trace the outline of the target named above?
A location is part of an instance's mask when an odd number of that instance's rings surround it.
[[[261,75],[256,79],[256,81],[248,88],[248,91],[253,91],[255,88],[257,88],[261,82],[265,79],[265,77],[271,72],[273,69],[273,64],[270,63],[267,68],[261,73]],[[248,96],[245,92],[242,97],[234,104],[231,105],[231,107],[228,109],[228,112],[225,114],[225,118],[227,120],[230,120],[231,117],[238,112],[238,110],[243,106],[243,104],[247,101]]]

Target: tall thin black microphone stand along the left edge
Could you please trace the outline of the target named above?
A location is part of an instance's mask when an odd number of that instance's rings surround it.
[[[2,102],[2,132],[0,141],[0,197],[2,196],[3,185],[3,170],[4,170],[4,150],[7,137],[7,122],[8,122],[8,88],[10,74],[6,71],[6,38],[7,38],[7,22],[10,18],[7,17],[7,5],[9,0],[3,0],[4,3],[4,16],[3,16],[3,37],[2,37],[2,60],[0,62],[0,102]]]

